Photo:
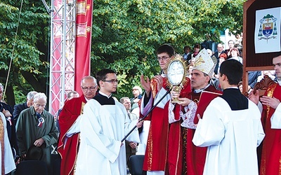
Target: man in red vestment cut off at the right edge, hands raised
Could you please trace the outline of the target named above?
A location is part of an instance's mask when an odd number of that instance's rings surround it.
[[[268,87],[260,98],[259,91],[251,92],[249,99],[256,104],[263,104],[261,123],[266,137],[263,139],[261,151],[261,175],[281,174],[281,55],[273,58],[273,66],[277,83]]]

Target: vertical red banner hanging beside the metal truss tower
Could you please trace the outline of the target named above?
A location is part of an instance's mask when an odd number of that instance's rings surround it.
[[[90,75],[93,1],[77,0],[74,90],[82,94],[81,78]]]

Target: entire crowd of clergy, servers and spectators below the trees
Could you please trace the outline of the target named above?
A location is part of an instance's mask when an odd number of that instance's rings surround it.
[[[170,88],[166,76],[176,55],[169,44],[156,50],[161,74],[142,75],[142,87],[133,86],[131,98],[113,97],[118,80],[111,69],[85,76],[82,94],[67,95],[56,122],[45,110],[44,93],[29,92],[27,102],[13,108],[1,102],[2,174],[13,174],[25,160],[46,162],[52,174],[56,144],[62,175],[129,174],[129,158],[137,154],[144,155],[148,175],[280,174],[281,55],[273,58],[274,73],[263,71],[277,83],[261,98],[259,90],[246,97],[240,90],[242,42],[228,46],[218,43],[216,52],[198,43],[193,52],[185,46],[188,72],[180,90]],[[263,74],[249,73],[249,90]],[[0,84],[0,99],[3,91]],[[202,92],[216,97],[204,99]],[[207,108],[198,114],[202,106]]]

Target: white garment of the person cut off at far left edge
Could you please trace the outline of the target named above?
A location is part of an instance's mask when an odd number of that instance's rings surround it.
[[[1,119],[4,124],[4,165],[5,165],[5,174],[8,174],[9,172],[12,172],[15,169],[15,161],[13,160],[13,153],[11,150],[10,141],[8,140],[8,133],[6,130],[6,118],[4,116],[4,113],[0,112]],[[0,143],[1,146],[1,143]],[[1,148],[1,147],[0,147]],[[1,170],[1,153],[0,153],[0,170]]]

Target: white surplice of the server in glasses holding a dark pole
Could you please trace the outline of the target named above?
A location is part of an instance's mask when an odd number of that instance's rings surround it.
[[[137,122],[129,119],[117,100],[115,105],[103,106],[95,99],[89,100],[80,121],[81,142],[75,174],[126,174],[125,143],[121,146],[121,140]],[[137,128],[126,140],[140,142]]]

